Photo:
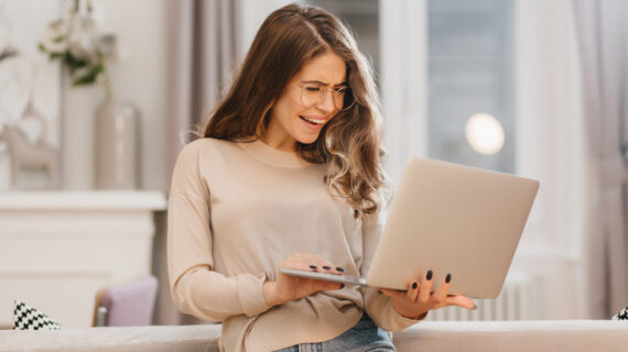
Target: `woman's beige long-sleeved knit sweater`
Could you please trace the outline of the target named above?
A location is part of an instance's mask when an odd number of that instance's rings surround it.
[[[201,139],[176,162],[167,215],[172,297],[184,312],[221,321],[221,349],[272,351],[333,339],[366,309],[382,329],[415,320],[376,288],[346,286],[268,307],[264,280],[296,252],[321,256],[347,274],[366,275],[381,233],[375,218],[327,194],[324,166],[261,141]]]

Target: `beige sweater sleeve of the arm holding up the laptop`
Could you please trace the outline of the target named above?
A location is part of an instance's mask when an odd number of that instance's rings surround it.
[[[370,216],[364,219],[364,261],[360,270],[362,277],[368,275],[368,271],[370,270],[375,255],[375,250],[379,243],[379,238],[381,237],[382,231],[383,220],[381,219],[381,215]],[[405,318],[397,312],[392,306],[391,298],[380,294],[377,287],[365,287],[364,297],[367,314],[383,330],[402,331],[419,322],[419,320]]]

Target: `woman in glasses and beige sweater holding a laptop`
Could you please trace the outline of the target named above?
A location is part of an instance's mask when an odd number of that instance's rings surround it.
[[[376,88],[332,14],[270,14],[203,135],[174,169],[169,273],[182,311],[223,322],[223,350],[394,351],[382,329],[474,306],[448,283],[431,294],[431,272],[407,292],[278,273],[366,275],[382,230]]]

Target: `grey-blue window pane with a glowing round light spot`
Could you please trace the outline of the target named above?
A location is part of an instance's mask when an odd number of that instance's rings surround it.
[[[430,157],[515,172],[512,2],[427,2]]]

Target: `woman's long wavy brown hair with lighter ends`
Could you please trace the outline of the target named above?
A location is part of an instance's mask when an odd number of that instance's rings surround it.
[[[381,114],[371,67],[354,36],[333,14],[297,4],[272,12],[201,134],[238,142],[261,139],[270,111],[289,81],[306,63],[327,52],[345,61],[346,81],[356,103],[338,111],[316,142],[297,142],[296,153],[304,161],[326,165],[329,194],[345,198],[358,219],[378,212],[382,204],[386,173],[380,160]]]

